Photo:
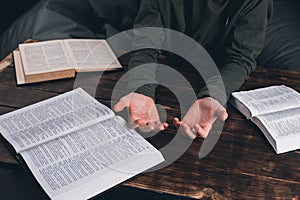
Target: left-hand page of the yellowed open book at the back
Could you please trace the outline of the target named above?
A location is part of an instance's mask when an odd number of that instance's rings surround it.
[[[25,75],[74,69],[62,40],[20,44]]]

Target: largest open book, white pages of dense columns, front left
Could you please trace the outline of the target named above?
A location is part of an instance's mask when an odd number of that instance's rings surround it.
[[[0,132],[51,199],[91,198],[164,161],[81,88],[0,116]]]

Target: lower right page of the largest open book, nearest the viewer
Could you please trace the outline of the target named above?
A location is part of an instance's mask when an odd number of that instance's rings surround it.
[[[88,199],[164,161],[120,117],[21,152],[51,199]]]

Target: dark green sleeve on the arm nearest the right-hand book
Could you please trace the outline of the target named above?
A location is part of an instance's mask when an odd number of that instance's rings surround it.
[[[225,65],[220,68],[225,91],[220,80],[216,81],[218,79],[212,77],[208,80],[207,87],[200,91],[198,98],[212,96],[224,105],[230,94],[238,90],[255,69],[255,59],[263,48],[272,2],[270,0],[253,2],[255,3],[237,16],[238,19],[227,42]],[[209,91],[215,92],[210,94]],[[225,98],[222,98],[224,96]]]

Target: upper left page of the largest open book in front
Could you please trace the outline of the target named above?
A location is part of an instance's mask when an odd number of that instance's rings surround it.
[[[19,153],[114,116],[81,88],[0,116],[0,132]]]

